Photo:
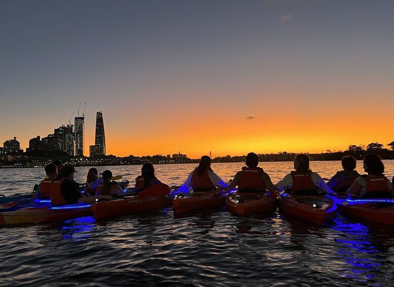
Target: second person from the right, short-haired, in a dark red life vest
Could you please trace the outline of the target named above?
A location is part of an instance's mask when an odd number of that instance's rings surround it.
[[[355,179],[360,174],[354,170],[356,166],[356,159],[351,155],[342,157],[342,171],[338,171],[330,180],[327,185],[335,193],[346,193],[347,189],[353,184]]]

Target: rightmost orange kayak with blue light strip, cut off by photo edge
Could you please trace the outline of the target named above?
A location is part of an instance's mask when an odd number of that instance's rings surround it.
[[[392,199],[361,199],[346,195],[336,198],[335,201],[338,208],[348,216],[394,225]]]

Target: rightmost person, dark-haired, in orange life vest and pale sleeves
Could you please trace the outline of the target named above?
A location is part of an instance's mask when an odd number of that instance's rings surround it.
[[[392,183],[384,176],[384,165],[379,156],[366,154],[363,157],[366,175],[356,178],[347,190],[347,194],[365,198],[392,198],[394,195]]]

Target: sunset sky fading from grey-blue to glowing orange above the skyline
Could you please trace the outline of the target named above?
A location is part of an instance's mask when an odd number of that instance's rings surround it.
[[[393,1],[0,2],[0,146],[85,102],[85,155],[197,158],[394,140]],[[74,116],[71,123],[74,123]]]

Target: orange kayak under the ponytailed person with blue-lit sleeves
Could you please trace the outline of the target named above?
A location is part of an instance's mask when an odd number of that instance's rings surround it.
[[[218,190],[204,192],[191,192],[179,194],[172,200],[176,213],[184,213],[193,210],[221,207],[224,205],[227,194]]]

